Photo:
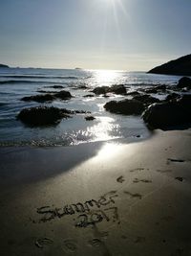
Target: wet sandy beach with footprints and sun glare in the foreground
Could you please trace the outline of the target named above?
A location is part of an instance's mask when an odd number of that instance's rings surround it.
[[[1,256],[191,255],[191,129],[0,159]]]

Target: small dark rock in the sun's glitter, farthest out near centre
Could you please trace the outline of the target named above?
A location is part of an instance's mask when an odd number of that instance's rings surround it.
[[[125,95],[126,94],[126,88],[123,84],[119,84],[119,85],[116,84],[116,85],[112,85],[111,87],[109,87],[109,86],[98,86],[93,90],[93,92],[96,95],[106,94],[108,92]]]

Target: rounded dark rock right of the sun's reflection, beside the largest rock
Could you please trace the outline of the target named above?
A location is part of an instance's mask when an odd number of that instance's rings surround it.
[[[137,100],[111,101],[104,105],[107,111],[124,115],[139,115],[144,110],[144,105]]]

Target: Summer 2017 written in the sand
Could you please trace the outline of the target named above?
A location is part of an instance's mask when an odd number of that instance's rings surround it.
[[[52,221],[55,218],[62,218],[68,215],[78,214],[75,226],[86,227],[100,221],[118,221],[117,207],[105,208],[110,204],[115,204],[117,191],[110,191],[100,198],[64,205],[63,207],[42,206],[37,208],[37,213],[43,215],[40,222]],[[104,207],[104,208],[103,208]]]

